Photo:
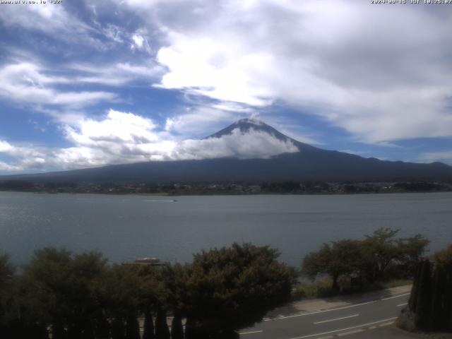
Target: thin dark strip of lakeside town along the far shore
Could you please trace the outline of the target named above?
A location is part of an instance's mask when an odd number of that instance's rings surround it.
[[[388,194],[448,192],[452,182],[206,182],[206,183],[32,183],[21,180],[0,182],[0,191],[71,194]]]

